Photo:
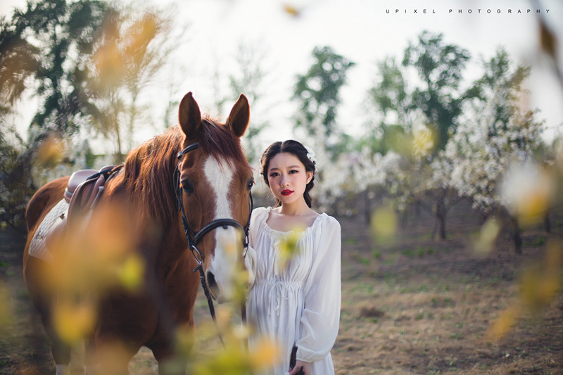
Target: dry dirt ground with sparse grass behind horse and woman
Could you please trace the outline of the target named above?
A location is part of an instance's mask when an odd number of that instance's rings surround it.
[[[501,234],[485,258],[472,253],[469,239],[479,218],[467,204],[448,216],[445,241],[431,240],[431,217],[415,212],[386,243],[372,240],[360,215],[337,218],[343,259],[341,326],[332,350],[336,374],[563,374],[561,291],[538,312],[519,310],[500,340],[487,336],[517,302],[526,267],[542,262],[550,239],[563,243],[563,215],[554,215],[549,235],[540,228],[525,231],[523,255],[514,255]],[[0,331],[0,374],[54,374],[49,341],[23,284],[23,245],[20,234],[0,231],[0,283],[7,286],[13,316]],[[196,324],[208,319],[201,294]],[[72,368],[83,374],[80,355]],[[129,368],[158,374],[146,348]]]

